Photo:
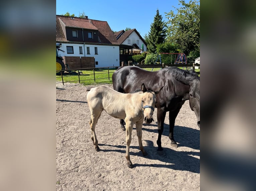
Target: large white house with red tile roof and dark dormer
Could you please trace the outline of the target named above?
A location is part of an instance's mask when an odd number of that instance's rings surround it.
[[[56,45],[65,51],[58,52],[65,61],[90,57],[94,67],[120,66],[120,44],[106,21],[56,15]]]

